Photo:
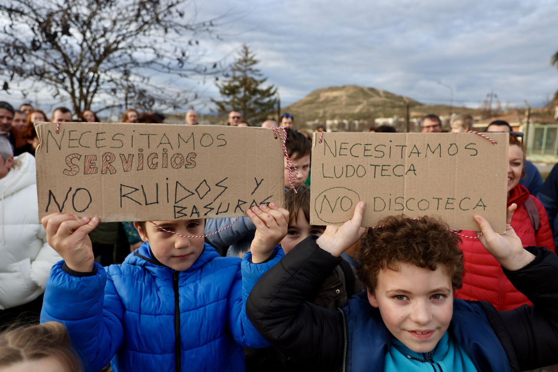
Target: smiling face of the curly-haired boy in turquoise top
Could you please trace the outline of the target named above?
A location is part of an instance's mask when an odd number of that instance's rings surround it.
[[[429,352],[445,334],[453,315],[451,277],[443,266],[432,271],[401,263],[383,269],[368,301],[389,332],[415,352]],[[420,333],[419,333],[420,332]]]

